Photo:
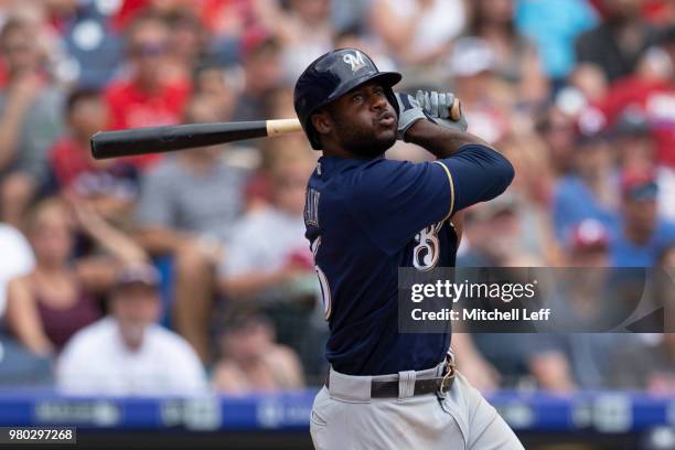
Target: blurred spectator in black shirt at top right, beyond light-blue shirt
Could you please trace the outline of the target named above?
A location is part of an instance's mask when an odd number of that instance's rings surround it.
[[[656,43],[656,31],[641,14],[642,0],[603,0],[602,7],[604,21],[577,39],[577,62],[592,65],[612,83],[635,71]]]

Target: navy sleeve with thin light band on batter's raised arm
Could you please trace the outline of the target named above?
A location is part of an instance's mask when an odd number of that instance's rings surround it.
[[[392,255],[425,227],[494,199],[512,179],[511,163],[478,144],[433,162],[382,159],[354,175],[345,207],[371,242]]]

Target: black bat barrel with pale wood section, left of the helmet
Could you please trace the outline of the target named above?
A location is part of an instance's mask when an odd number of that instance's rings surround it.
[[[99,131],[92,137],[90,144],[95,159],[107,159],[214,146],[301,130],[298,119],[189,124]]]

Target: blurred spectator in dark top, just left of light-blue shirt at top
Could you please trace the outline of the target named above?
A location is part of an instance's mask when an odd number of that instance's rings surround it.
[[[518,33],[514,23],[513,0],[476,0],[472,3],[467,30],[490,45],[494,55],[495,75],[514,88],[522,103],[537,104],[548,96],[535,45]]]

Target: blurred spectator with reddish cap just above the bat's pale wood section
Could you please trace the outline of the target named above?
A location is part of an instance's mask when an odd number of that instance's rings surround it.
[[[267,30],[251,28],[242,36],[244,90],[234,108],[233,120],[260,120],[267,96],[281,83],[282,47]]]

